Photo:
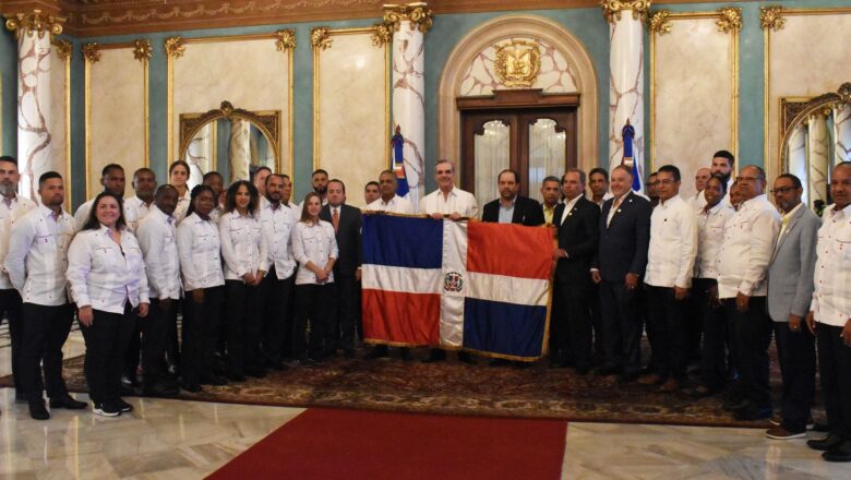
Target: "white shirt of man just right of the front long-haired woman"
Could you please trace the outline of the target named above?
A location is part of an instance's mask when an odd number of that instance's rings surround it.
[[[156,205],[142,219],[136,239],[147,269],[148,298],[178,300],[182,293],[175,217]]]

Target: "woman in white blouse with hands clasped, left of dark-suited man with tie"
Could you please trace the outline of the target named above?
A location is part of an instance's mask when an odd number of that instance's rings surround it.
[[[292,230],[292,256],[299,263],[296,275],[296,321],[292,356],[302,367],[322,360],[322,339],[328,328],[328,304],[334,301],[334,262],[337,240],[334,227],[320,220],[322,199],[314,192],[304,197],[304,209]],[[310,347],[307,341],[310,320]]]

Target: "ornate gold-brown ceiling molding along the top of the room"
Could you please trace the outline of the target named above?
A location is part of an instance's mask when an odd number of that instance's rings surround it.
[[[64,31],[75,37],[180,32],[250,25],[381,17],[389,0],[3,0],[3,14],[34,9],[68,19]],[[659,4],[706,0],[668,0]],[[728,3],[742,3],[739,0]],[[578,9],[599,0],[431,0],[434,14],[490,11]]]

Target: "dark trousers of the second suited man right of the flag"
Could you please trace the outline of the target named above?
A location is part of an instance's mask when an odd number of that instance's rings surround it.
[[[636,313],[638,291],[623,281],[600,283],[607,365],[620,365],[624,375],[642,370],[642,319]]]

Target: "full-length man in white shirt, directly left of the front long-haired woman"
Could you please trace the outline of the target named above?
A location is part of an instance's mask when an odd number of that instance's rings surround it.
[[[0,168],[7,164],[0,161]],[[67,252],[74,235],[74,220],[62,209],[62,177],[55,171],[44,173],[38,179],[38,194],[41,206],[19,219],[12,228],[3,266],[23,296],[23,335],[15,382],[21,375],[29,416],[47,420],[50,413],[45,408],[44,388],[51,410],[80,410],[86,404],[72,398],[62,380],[62,346],[74,316],[65,290]]]

